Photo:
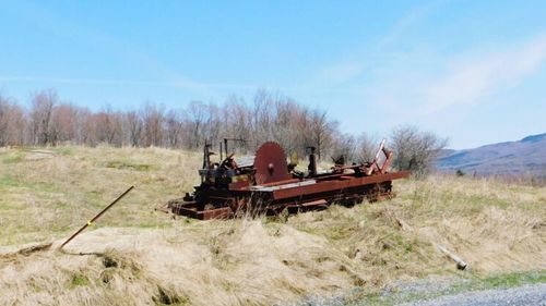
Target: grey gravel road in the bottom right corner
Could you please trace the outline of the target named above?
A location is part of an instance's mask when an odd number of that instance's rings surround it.
[[[428,301],[399,304],[400,306],[546,306],[546,283],[523,285],[511,289],[464,292],[444,295]]]

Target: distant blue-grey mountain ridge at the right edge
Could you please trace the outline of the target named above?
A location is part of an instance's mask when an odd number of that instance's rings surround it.
[[[473,149],[444,150],[437,160],[442,172],[461,170],[477,175],[525,175],[546,178],[546,133],[518,142]]]

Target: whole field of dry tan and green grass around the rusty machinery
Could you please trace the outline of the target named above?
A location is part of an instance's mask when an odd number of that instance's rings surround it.
[[[154,212],[198,183],[200,162],[161,148],[0,149],[0,305],[278,305],[430,276],[546,270],[545,187],[431,176],[396,181],[391,200],[287,220]]]

